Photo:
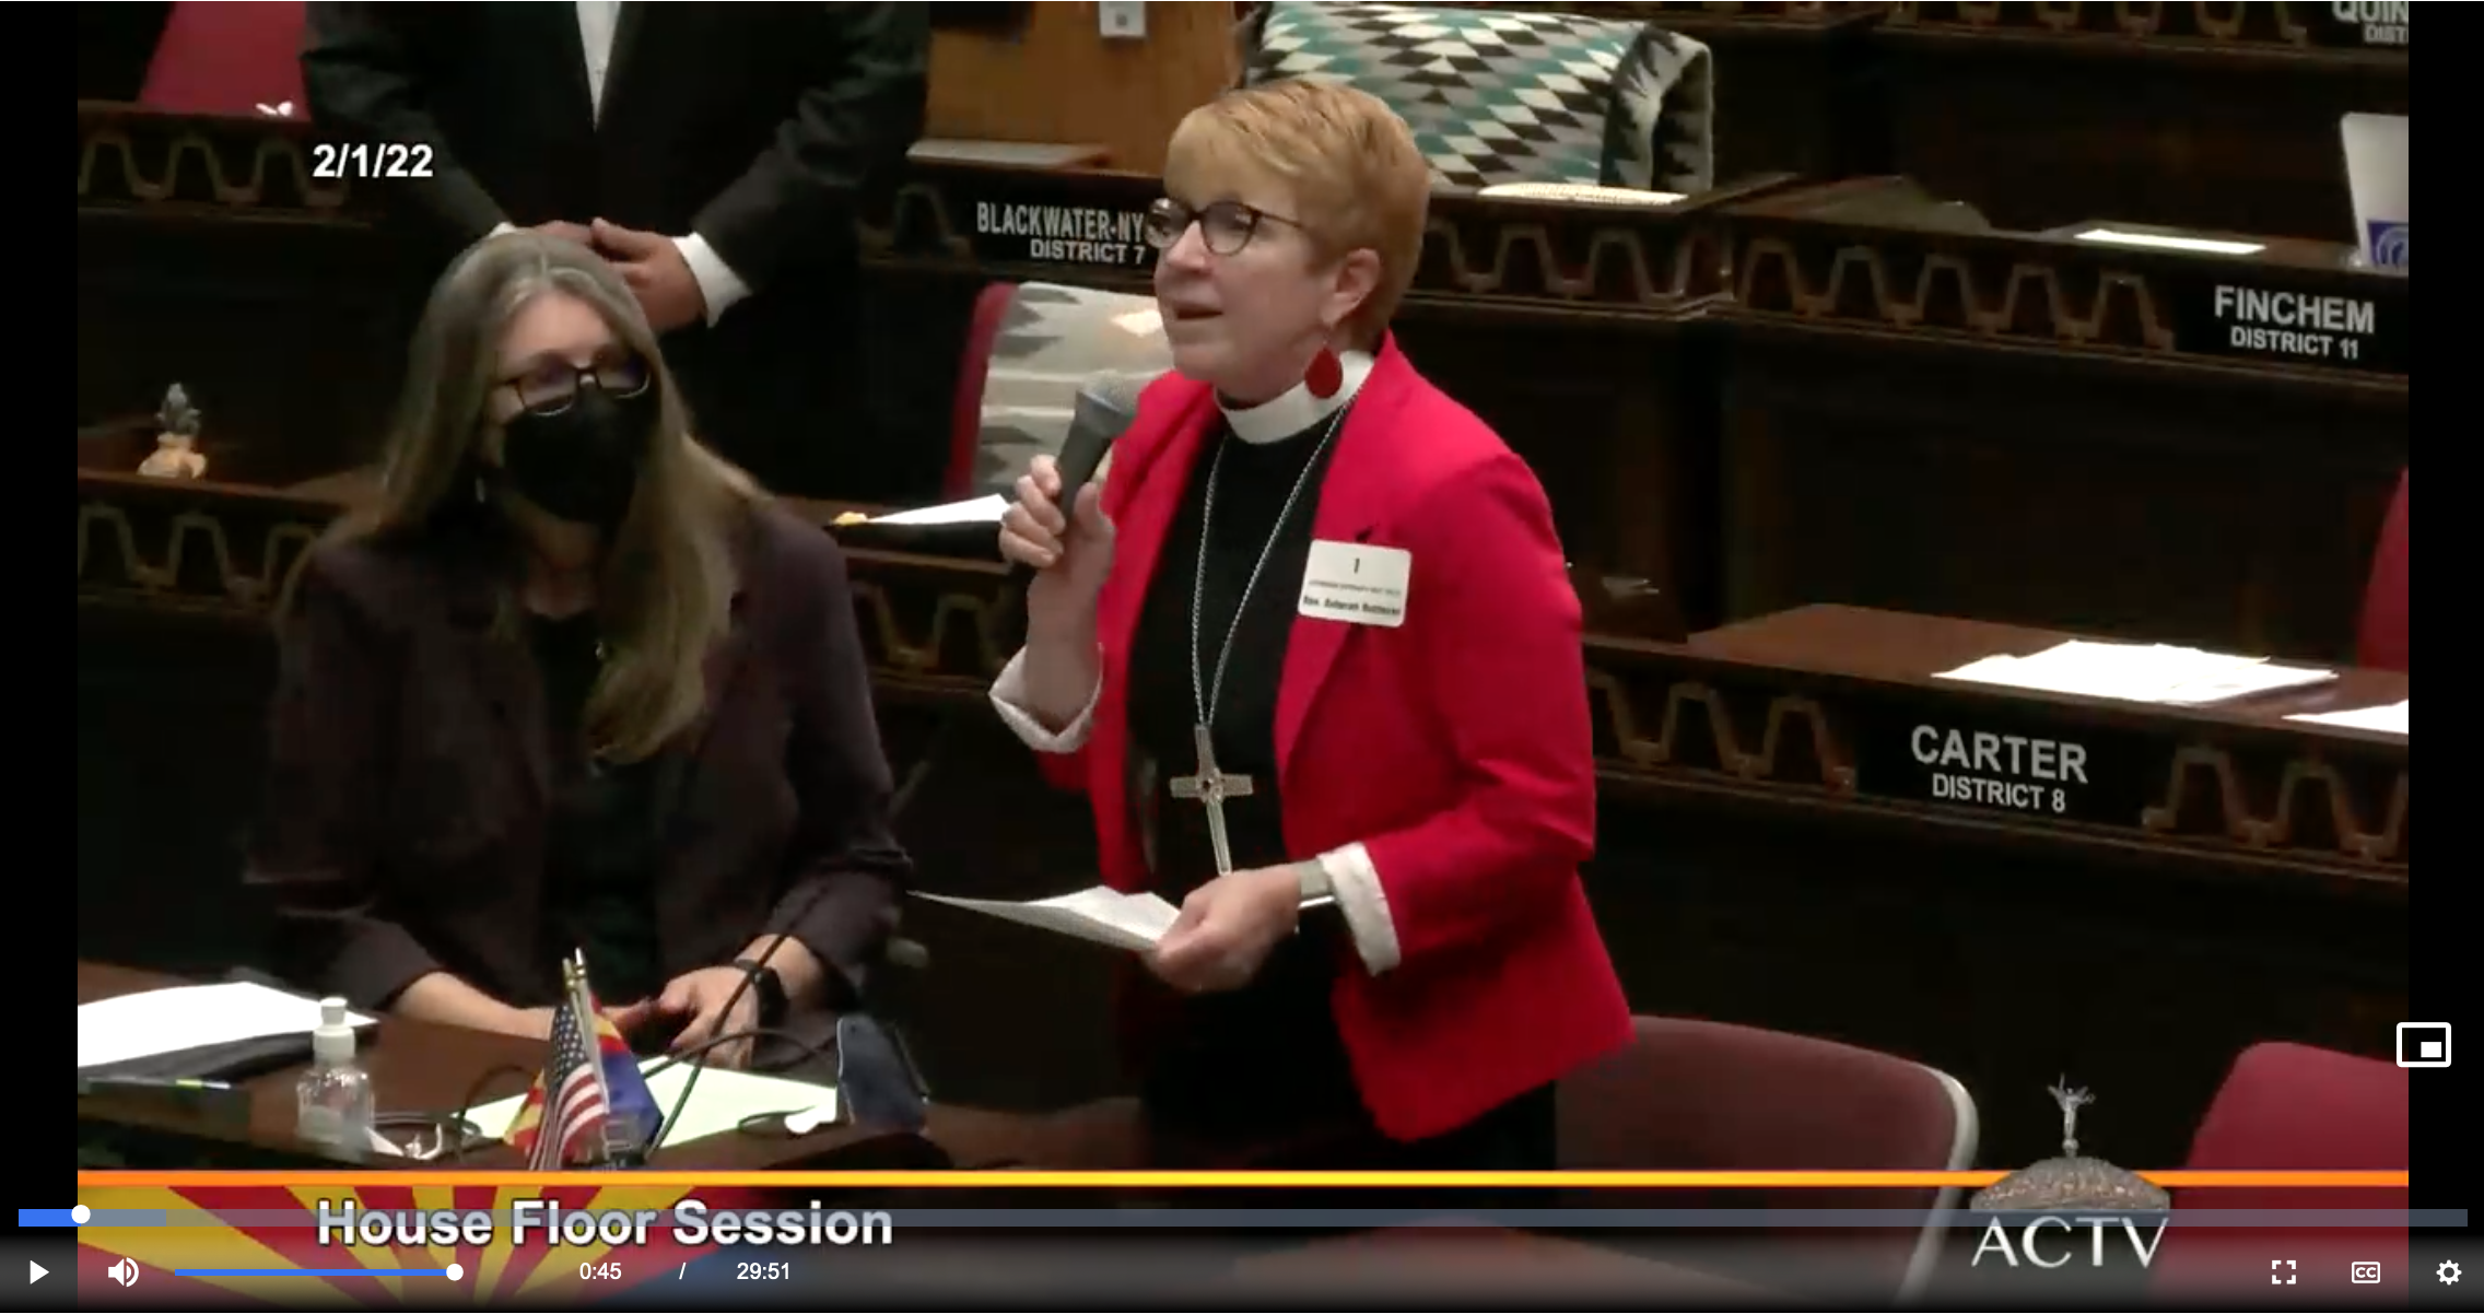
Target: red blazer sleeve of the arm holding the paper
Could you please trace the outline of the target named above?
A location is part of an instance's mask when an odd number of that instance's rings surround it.
[[[1552,507],[1515,455],[1451,479],[1406,534],[1406,628],[1463,797],[1361,850],[1403,961],[1493,936],[1595,854],[1580,604]]]

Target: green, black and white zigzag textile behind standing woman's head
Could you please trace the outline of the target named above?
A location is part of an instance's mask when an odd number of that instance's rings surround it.
[[[1436,186],[1714,184],[1714,60],[1649,22],[1279,0],[1242,40],[1244,84],[1344,82],[1396,109]]]

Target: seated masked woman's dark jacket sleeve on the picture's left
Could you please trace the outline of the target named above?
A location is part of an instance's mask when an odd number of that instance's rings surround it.
[[[268,795],[243,879],[276,904],[288,979],[385,1008],[440,961],[390,919],[375,884],[392,656],[323,561],[303,564],[278,641]]]

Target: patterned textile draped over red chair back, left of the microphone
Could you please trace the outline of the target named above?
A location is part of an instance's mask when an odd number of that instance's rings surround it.
[[[1148,383],[1172,368],[1153,296],[1018,283],[984,373],[984,422],[969,497],[1006,494],[1036,455],[1061,455],[1078,385]]]

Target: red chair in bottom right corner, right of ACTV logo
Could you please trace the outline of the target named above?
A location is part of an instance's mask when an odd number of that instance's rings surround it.
[[[2191,1138],[2188,1170],[2407,1170],[2407,1071],[2380,1058],[2260,1043],[2243,1051]],[[2174,1210],[2405,1210],[2405,1190],[2186,1187]],[[2405,1307],[2405,1227],[2171,1227],[2156,1259],[2161,1289],[2265,1292],[2270,1257],[2290,1259],[2305,1299]],[[2377,1284],[2350,1267],[2380,1264]]]

